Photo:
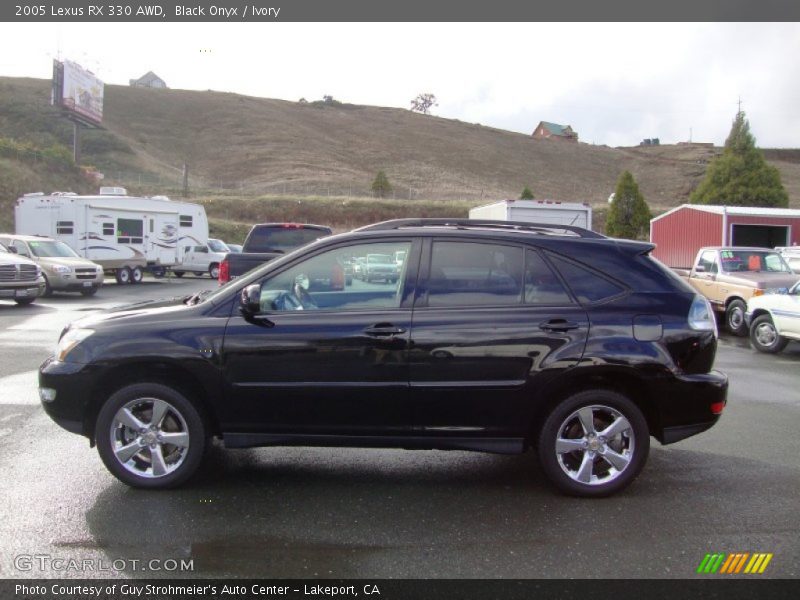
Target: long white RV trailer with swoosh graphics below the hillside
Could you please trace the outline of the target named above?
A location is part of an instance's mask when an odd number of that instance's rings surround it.
[[[101,191],[106,193],[25,194],[14,212],[16,232],[61,240],[120,283],[141,281],[148,267],[163,273],[180,263],[180,246],[208,241],[208,219],[198,204],[128,196],[124,188]]]

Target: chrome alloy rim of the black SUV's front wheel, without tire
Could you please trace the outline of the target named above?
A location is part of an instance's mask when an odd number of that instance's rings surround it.
[[[119,463],[139,477],[157,479],[181,466],[189,450],[189,428],[169,402],[137,398],[114,415],[111,449]]]

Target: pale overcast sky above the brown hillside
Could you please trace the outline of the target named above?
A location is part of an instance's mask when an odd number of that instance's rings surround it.
[[[584,142],[722,144],[741,96],[761,147],[800,146],[800,24],[0,24],[0,75],[49,79],[73,60],[108,84],[296,101],[330,94]]]

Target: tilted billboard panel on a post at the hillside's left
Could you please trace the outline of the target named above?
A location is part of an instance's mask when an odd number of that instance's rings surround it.
[[[53,61],[53,104],[87,124],[100,124],[103,82],[77,63]]]

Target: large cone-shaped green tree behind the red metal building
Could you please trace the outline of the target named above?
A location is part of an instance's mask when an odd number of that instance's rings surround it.
[[[781,208],[789,205],[780,173],[767,164],[761,150],[756,148],[744,112],[736,113],[722,155],[708,165],[705,179],[692,192],[689,201],[725,206]]]

